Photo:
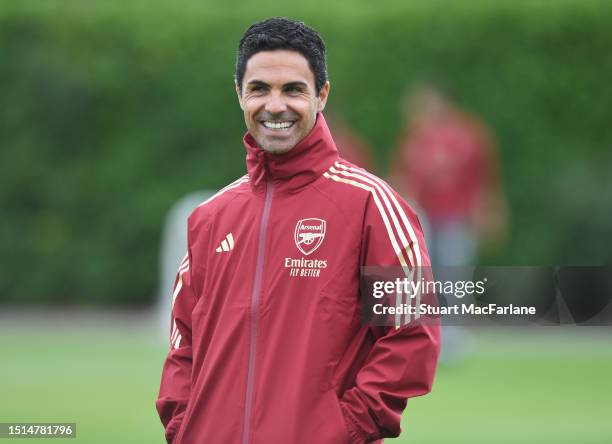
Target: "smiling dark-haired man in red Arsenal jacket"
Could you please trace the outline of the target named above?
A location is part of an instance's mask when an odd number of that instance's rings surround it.
[[[418,221],[338,156],[325,46],[269,19],[240,41],[248,175],[188,219],[157,410],[168,442],[365,443],[431,388],[436,325],[367,327],[360,266],[429,262]]]

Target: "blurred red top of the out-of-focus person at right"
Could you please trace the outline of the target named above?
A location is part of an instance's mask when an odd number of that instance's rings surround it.
[[[450,111],[421,119],[405,132],[395,176],[432,222],[466,219],[495,186],[493,156],[485,128]]]

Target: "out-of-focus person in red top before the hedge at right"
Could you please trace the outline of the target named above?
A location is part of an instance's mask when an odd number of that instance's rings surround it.
[[[493,139],[483,123],[431,83],[409,90],[403,113],[392,181],[424,213],[436,278],[470,279],[461,267],[477,265],[479,252],[496,251],[507,234]],[[456,363],[469,350],[464,328],[443,326],[442,363]]]

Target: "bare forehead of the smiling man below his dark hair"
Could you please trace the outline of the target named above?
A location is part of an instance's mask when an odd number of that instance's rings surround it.
[[[259,80],[270,85],[304,82],[314,87],[314,74],[308,60],[296,51],[260,51],[246,65],[243,82]]]

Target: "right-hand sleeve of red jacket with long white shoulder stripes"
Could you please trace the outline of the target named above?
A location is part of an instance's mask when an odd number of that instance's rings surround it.
[[[371,195],[362,233],[362,266],[430,267],[421,225],[386,184]],[[427,324],[427,325],[426,325]],[[408,398],[431,390],[440,348],[439,324],[370,327],[375,343],[340,406],[352,444],[397,437]]]

